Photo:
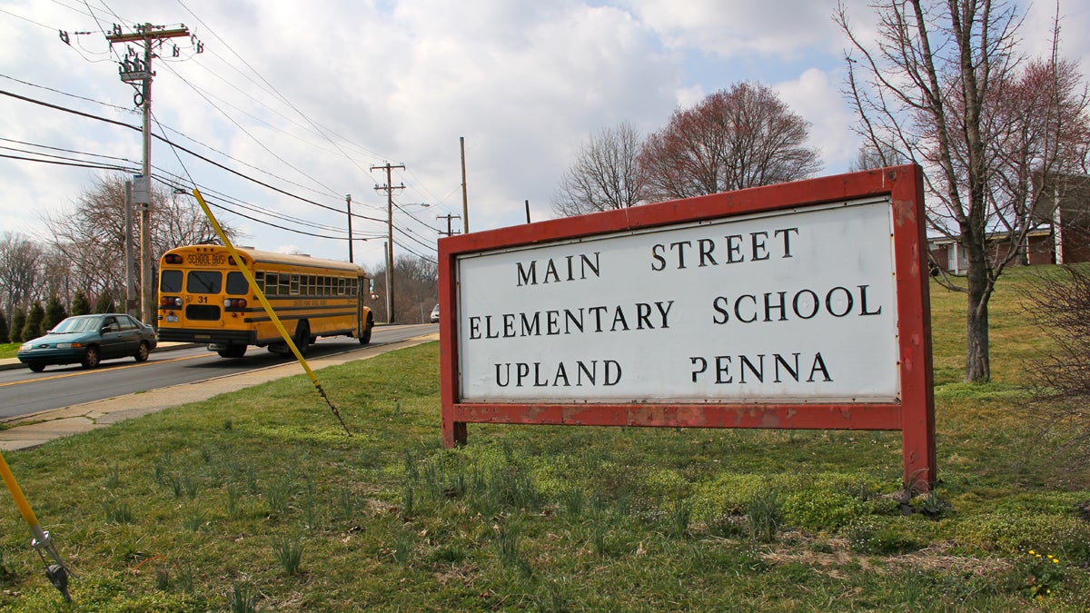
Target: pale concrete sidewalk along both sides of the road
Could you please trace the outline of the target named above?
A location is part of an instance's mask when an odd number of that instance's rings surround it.
[[[318,369],[323,369],[325,366],[342,364],[354,360],[365,360],[386,351],[414,347],[423,342],[437,340],[438,338],[438,334],[428,334],[387,345],[362,347],[360,349],[336,356],[307,360],[307,364],[310,364],[311,370],[317,371]],[[167,347],[164,347],[164,345]],[[156,351],[169,350],[170,348],[177,349],[181,347],[192,347],[192,345],[162,344],[156,348]],[[11,360],[2,360],[3,364],[0,364],[0,368],[8,368],[8,362],[10,361]],[[19,360],[14,361],[15,368],[25,368],[19,362]],[[0,449],[9,452],[37,447],[55,438],[60,438],[61,436],[89,432],[98,428],[105,428],[126,419],[145,416],[169,407],[207,400],[208,398],[219,394],[226,394],[228,392],[259,385],[275,378],[303,373],[303,366],[299,362],[292,361],[245,373],[227,375],[194,383],[183,383],[170,387],[160,387],[158,389],[150,389],[140,394],[117,396],[113,398],[106,398],[104,400],[96,400],[94,402],[73,405],[71,407],[51,409],[39,413],[11,418],[5,420],[4,423],[11,425],[12,428],[9,428],[8,430],[0,430]]]

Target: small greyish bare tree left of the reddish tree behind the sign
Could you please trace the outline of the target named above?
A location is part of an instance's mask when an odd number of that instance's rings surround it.
[[[602,129],[583,143],[560,179],[554,213],[572,217],[644,202],[644,182],[637,163],[641,141],[640,132],[626,121]]]

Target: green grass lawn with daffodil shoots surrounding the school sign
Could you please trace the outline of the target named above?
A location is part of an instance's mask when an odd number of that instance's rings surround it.
[[[899,505],[899,432],[469,425],[439,445],[438,345],[165,410],[8,462],[76,611],[1086,611],[1086,474],[1019,418],[1014,271],[992,371],[932,286],[937,468]],[[70,610],[0,502],[0,608]]]

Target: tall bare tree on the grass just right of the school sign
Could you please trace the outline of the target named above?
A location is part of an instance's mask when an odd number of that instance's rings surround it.
[[[873,45],[857,36],[844,3],[836,13],[852,46],[847,94],[858,130],[877,151],[924,168],[929,226],[956,239],[968,260],[964,285],[943,278],[968,296],[965,380],[985,382],[988,302],[1034,225],[1040,195],[1031,177],[1076,161],[1071,152],[1082,147],[1064,141],[1083,137],[1086,95],[1055,50],[1043,64],[1022,67],[1021,20],[1008,2],[886,0],[871,8],[879,14]],[[1058,20],[1052,34],[1058,37]]]

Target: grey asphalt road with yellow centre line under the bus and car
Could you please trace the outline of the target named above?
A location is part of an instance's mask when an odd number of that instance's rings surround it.
[[[397,342],[437,330],[437,324],[379,326],[374,329],[371,345],[366,347]],[[363,348],[351,338],[323,338],[311,346],[307,358],[360,351]],[[0,420],[228,376],[291,361],[294,361],[293,357],[277,356],[255,347],[251,347],[246,356],[238,360],[223,359],[204,347],[196,347],[155,351],[143,363],[128,358],[109,360],[94,370],[65,365],[47,366],[40,373],[26,369],[0,371]]]

